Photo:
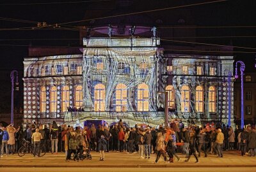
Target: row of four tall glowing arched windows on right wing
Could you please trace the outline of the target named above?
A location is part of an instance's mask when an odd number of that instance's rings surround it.
[[[166,91],[168,92],[168,108],[175,108],[175,91],[172,85],[168,85],[166,87]],[[211,86],[208,90],[208,106],[209,112],[216,112],[216,89]],[[181,112],[189,112],[189,102],[190,102],[190,89],[188,85],[183,85],[180,89],[181,99]],[[202,86],[196,87],[196,97],[195,97],[195,108],[196,112],[204,112],[204,89]]]

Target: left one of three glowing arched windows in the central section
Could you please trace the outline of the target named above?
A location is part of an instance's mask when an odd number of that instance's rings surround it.
[[[94,110],[105,110],[105,86],[102,83],[98,83],[94,87]]]

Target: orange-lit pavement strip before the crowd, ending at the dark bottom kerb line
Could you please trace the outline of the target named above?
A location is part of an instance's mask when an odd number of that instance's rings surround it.
[[[57,155],[47,153],[44,157],[33,157],[31,154],[19,157],[16,155],[4,156],[0,159],[0,168],[242,168],[256,167],[256,157],[242,157],[238,152],[224,152],[223,158],[216,155],[200,157],[199,163],[195,163],[195,157],[191,156],[189,162],[184,162],[184,155],[179,154],[180,161],[166,164],[163,158],[159,164],[154,164],[156,154],[150,159],[139,159],[138,154],[126,154],[125,152],[109,152],[105,154],[105,161],[99,161],[99,153],[91,152],[92,160],[79,162],[65,162],[65,154]],[[204,154],[203,154],[204,155]]]

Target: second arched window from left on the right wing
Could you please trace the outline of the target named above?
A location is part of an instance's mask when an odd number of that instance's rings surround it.
[[[190,90],[188,85],[183,85],[181,87],[181,112],[189,112],[190,108],[189,108],[189,101],[190,101]]]

